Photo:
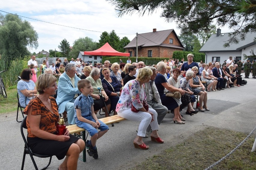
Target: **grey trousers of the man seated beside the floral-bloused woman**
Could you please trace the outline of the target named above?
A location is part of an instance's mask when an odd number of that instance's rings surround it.
[[[160,103],[157,103],[154,100],[148,102],[148,108],[152,108],[157,112],[157,123],[158,125],[160,125],[163,118],[167,114],[168,109],[164,105],[161,105]],[[151,126],[149,125],[146,131],[149,132],[150,130]]]

